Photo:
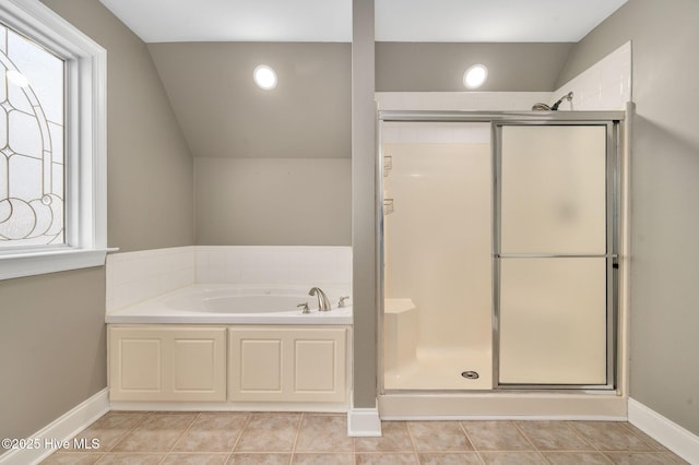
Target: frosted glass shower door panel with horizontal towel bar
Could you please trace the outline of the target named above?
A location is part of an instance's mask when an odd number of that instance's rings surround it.
[[[495,129],[497,384],[608,386],[612,123]]]

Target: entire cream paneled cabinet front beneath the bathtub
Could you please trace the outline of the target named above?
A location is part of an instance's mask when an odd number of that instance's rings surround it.
[[[110,401],[346,403],[347,331],[110,324]]]

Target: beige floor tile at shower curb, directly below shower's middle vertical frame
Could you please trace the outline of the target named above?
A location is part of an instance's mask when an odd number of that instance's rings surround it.
[[[534,446],[512,421],[462,421],[476,451],[521,451]]]

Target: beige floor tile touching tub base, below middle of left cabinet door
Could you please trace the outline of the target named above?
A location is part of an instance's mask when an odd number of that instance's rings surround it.
[[[197,414],[151,414],[121,439],[115,452],[168,452]]]

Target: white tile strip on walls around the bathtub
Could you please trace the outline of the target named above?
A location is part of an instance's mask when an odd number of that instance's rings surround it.
[[[351,247],[191,246],[107,257],[107,313],[194,283],[351,288]]]

